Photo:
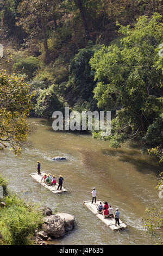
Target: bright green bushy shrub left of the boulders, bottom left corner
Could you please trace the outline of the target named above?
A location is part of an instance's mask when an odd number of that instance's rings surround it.
[[[4,198],[0,211],[0,230],[4,245],[29,245],[35,230],[41,227],[43,215],[36,206],[26,204],[16,196]]]

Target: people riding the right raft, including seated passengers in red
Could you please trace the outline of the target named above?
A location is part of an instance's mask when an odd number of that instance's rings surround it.
[[[96,190],[95,190],[95,187],[93,187],[93,190],[92,192],[92,204],[93,204],[93,200],[95,199],[95,204],[96,204]],[[110,205],[109,207],[109,204],[108,202],[105,202],[104,203],[104,206],[102,205],[102,202],[99,202],[97,206],[97,210],[99,212],[99,214],[103,214],[104,218],[107,218],[107,217],[114,217],[114,213],[113,213],[113,209]],[[115,212],[115,226],[117,225],[120,225],[120,212],[119,212],[119,209],[116,208],[116,212]]]

